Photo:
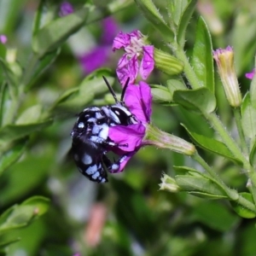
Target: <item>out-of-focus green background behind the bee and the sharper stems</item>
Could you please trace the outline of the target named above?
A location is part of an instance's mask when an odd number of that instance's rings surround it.
[[[45,16],[58,18],[61,1],[43,2]],[[84,1],[70,3],[74,9],[79,9]],[[0,1],[0,34],[8,37],[5,47],[9,52],[17,49],[16,60],[21,67],[26,67],[31,55],[32,23],[38,4],[36,0]],[[107,3],[95,1],[95,4],[104,6]],[[157,1],[157,5],[166,15],[166,1]],[[203,15],[212,32],[214,49],[234,47],[241,90],[246,92],[249,81],[243,74],[251,71],[256,48],[256,3],[199,1],[189,23],[188,55],[199,15]],[[139,29],[148,35],[155,47],[167,49],[135,3],[113,14],[112,19],[117,32]],[[81,56],[102,45],[103,30],[104,24],[99,20],[82,27],[69,38],[55,61],[26,91],[26,100],[19,113],[36,104],[49,109],[62,93],[78,86],[88,75]],[[114,75],[121,53],[113,53],[111,44],[107,47],[109,56],[101,67],[110,68]],[[165,84],[166,79],[166,74],[154,72],[148,83]],[[219,83],[218,77],[216,80]],[[218,111],[224,123],[229,125],[230,108],[224,101],[223,90],[218,88],[220,86],[217,86]],[[118,84],[114,89],[120,92]],[[20,160],[3,172],[0,212],[33,195],[50,200],[49,211],[44,216],[6,235],[9,239],[20,238],[9,245],[6,255],[256,255],[255,221],[238,217],[229,202],[159,191],[162,172],[175,175],[172,166],[200,168],[189,157],[146,147],[133,157],[125,172],[108,175],[109,183],[92,183],[78,172],[69,152],[72,143],[69,133],[75,114],[97,103],[106,104],[106,91],[107,88],[96,92],[96,98],[84,105],[55,108],[51,116],[53,124],[32,133]],[[189,137],[180,123],[189,126],[194,122],[205,129],[199,116],[181,108],[160,106],[158,102],[154,102],[152,122],[161,130],[187,140]],[[231,188],[244,189],[246,180],[234,166],[223,163],[220,158],[213,159],[211,154],[204,157],[209,164],[222,170],[221,175]],[[3,255],[5,253],[3,251]]]

